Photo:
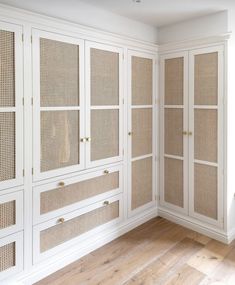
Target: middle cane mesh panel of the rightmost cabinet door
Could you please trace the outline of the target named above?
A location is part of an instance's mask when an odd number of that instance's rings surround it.
[[[217,162],[217,110],[195,110],[195,159]]]

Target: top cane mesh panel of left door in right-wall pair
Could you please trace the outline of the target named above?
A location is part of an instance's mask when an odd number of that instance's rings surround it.
[[[165,105],[184,104],[184,58],[165,60]]]

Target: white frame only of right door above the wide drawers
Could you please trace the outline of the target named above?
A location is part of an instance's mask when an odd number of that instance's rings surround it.
[[[119,105],[100,105],[100,106],[91,106],[91,49],[99,49],[103,51],[110,51],[119,54]],[[107,45],[92,41],[86,41],[85,43],[85,90],[86,90],[86,137],[91,138],[91,110],[119,110],[119,155],[115,157],[99,159],[91,161],[91,143],[86,142],[86,168],[97,167],[109,163],[115,163],[123,160],[123,100],[124,100],[124,85],[123,85],[123,74],[124,74],[124,51],[123,48]]]

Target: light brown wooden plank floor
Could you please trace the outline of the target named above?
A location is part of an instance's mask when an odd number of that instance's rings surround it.
[[[36,284],[235,285],[235,243],[155,218]]]

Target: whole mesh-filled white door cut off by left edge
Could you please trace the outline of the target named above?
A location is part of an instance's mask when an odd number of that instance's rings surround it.
[[[23,184],[22,28],[0,23],[0,190]]]

